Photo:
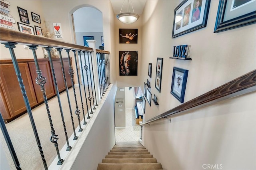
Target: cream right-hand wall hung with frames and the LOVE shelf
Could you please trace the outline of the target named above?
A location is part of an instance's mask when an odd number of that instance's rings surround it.
[[[210,3],[206,28],[172,39],[174,8],[180,1],[146,2],[141,77],[148,77],[152,63],[151,93],[158,96],[159,106],[146,102],[143,120],[181,104],[170,94],[174,66],[189,70],[184,102],[256,68],[255,24],[213,33],[219,1]],[[169,59],[173,46],[183,44],[191,45],[192,61]],[[161,93],[154,87],[157,57],[164,58]],[[140,80],[141,89],[144,81]],[[143,144],[168,170],[203,169],[202,164],[255,169],[255,98],[250,93],[172,117],[171,123],[145,125]]]

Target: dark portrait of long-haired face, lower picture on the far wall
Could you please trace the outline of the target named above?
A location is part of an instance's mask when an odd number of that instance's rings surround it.
[[[119,75],[138,75],[138,51],[119,51]]]

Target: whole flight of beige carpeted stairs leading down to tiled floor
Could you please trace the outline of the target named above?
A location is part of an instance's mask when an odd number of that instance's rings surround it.
[[[162,165],[140,142],[116,142],[98,170],[162,170]]]

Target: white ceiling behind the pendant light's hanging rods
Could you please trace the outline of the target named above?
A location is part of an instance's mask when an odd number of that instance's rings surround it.
[[[110,2],[112,4],[112,8],[113,8],[115,14],[120,13],[123,3],[124,3],[124,6],[122,8],[122,12],[127,12],[128,0],[110,0]],[[130,2],[130,12],[133,12],[132,11],[132,6],[133,6],[134,13],[142,14],[144,6],[146,4],[146,0],[129,0],[129,2]]]

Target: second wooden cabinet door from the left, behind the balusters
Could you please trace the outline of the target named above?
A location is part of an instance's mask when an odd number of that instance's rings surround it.
[[[43,93],[41,91],[40,85],[36,84],[36,64],[35,63],[28,63],[31,77],[32,77],[32,82],[34,85],[35,93],[36,93],[36,99],[38,103],[44,101],[43,98]],[[39,61],[39,67],[42,71],[42,76],[46,78],[46,83],[44,84],[45,87],[45,92],[47,98],[50,98],[55,95],[54,91],[54,86],[53,86],[53,81],[52,81],[52,73],[50,69],[50,65],[48,61]]]

